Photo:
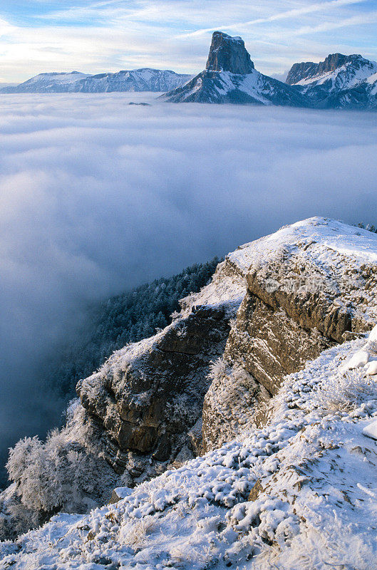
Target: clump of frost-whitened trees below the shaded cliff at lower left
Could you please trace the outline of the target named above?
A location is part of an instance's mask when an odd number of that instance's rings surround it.
[[[95,448],[93,434],[80,437],[76,426],[82,413],[81,406],[73,405],[62,430],[50,432],[45,442],[37,436],[25,437],[10,450],[6,468],[23,507],[49,514],[58,509],[86,512],[98,506],[107,487],[115,482]],[[72,432],[76,437],[71,437]],[[103,477],[98,481],[93,473]]]

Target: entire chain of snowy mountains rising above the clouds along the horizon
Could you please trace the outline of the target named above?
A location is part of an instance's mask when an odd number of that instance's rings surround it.
[[[192,77],[151,68],[118,73],[41,73],[0,93],[153,91],[172,103],[253,103],[304,108],[377,110],[377,63],[333,53],[294,63],[285,83],[255,69],[242,38],[215,31],[204,71]]]

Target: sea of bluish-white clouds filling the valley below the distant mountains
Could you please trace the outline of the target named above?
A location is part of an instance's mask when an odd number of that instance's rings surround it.
[[[88,302],[305,217],[377,222],[371,113],[2,95],[0,145],[3,457],[61,413],[38,366]]]

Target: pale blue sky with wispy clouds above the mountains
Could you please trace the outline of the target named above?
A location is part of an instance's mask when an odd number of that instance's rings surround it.
[[[200,71],[213,30],[279,74],[329,53],[377,59],[377,0],[1,0],[0,81],[143,66]]]

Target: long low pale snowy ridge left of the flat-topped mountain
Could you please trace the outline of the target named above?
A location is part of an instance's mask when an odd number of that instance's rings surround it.
[[[142,68],[118,73],[40,73],[0,93],[109,93],[113,91],[165,92],[187,83],[192,76],[169,70]]]

